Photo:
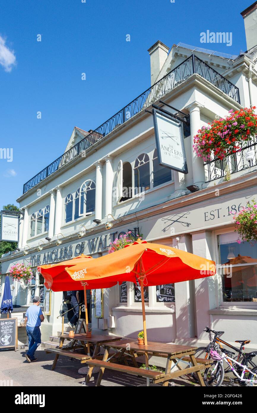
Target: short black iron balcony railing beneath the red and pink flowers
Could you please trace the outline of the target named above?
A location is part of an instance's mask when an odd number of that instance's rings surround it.
[[[211,182],[215,179],[229,179],[229,175],[244,171],[252,166],[257,166],[257,137],[251,140],[241,141],[238,152],[228,155],[224,159],[213,157],[211,161],[204,164],[206,182]],[[253,152],[253,159],[247,160],[246,153]]]

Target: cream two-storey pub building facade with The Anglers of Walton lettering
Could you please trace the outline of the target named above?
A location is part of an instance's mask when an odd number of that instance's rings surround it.
[[[257,200],[257,141],[223,161],[203,162],[192,148],[202,126],[230,109],[257,106],[257,19],[252,20],[257,2],[242,15],[245,28],[255,22],[254,31],[246,30],[247,53],[232,56],[182,43],[169,52],[156,42],[149,49],[151,87],[96,130],[75,127],[64,154],[24,184],[17,199],[20,251],[1,258],[2,280],[13,263],[33,268],[30,284],[12,286],[21,311],[33,295],[40,295],[44,306],[46,288],[37,266],[82,253],[97,258],[130,230],[148,242],[217,263],[215,276],[146,287],[150,340],[203,345],[208,341],[203,329],[209,326],[224,330],[229,342],[249,338],[257,349],[257,246],[238,244],[233,226],[233,214]],[[183,124],[187,174],[159,165],[153,116],[145,111],[153,103],[188,115]],[[249,149],[254,151],[250,161],[245,156]],[[220,267],[239,255],[243,259],[229,278]],[[68,294],[52,292],[43,340],[61,330],[57,317]],[[137,337],[142,330],[138,285],[124,282],[104,289],[101,311],[98,292],[88,294],[93,332]]]

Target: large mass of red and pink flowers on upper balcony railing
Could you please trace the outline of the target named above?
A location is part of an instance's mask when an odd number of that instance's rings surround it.
[[[224,119],[214,120],[209,126],[203,126],[193,137],[193,150],[204,161],[210,161],[212,155],[223,159],[241,148],[240,141],[251,140],[257,134],[257,115],[251,109],[240,111],[233,109]]]

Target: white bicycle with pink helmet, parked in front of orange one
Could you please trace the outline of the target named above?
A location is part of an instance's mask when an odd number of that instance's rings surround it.
[[[257,351],[252,352],[252,354],[253,356],[255,356],[257,354]],[[219,354],[216,350],[213,350],[211,348],[210,357],[212,358],[212,360],[214,360],[214,363],[212,363],[211,367],[205,369],[203,379],[206,386],[210,387],[215,383],[214,386],[216,387],[222,384],[224,379],[224,361],[229,366],[229,368],[231,368],[230,371],[233,372],[239,383],[245,383],[245,385],[247,386],[257,386],[257,367],[253,370],[250,370],[248,365],[245,365],[243,362],[239,363],[238,361],[236,361],[232,357],[231,352],[226,349],[222,349],[221,353]],[[236,366],[239,366],[239,368],[234,368],[234,364],[236,364]],[[219,380],[218,384],[217,379]]]

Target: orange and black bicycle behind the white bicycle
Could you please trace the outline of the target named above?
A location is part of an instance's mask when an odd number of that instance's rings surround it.
[[[238,356],[236,358],[236,361],[238,362],[240,357],[243,357],[242,359],[242,363],[247,364],[249,363],[249,365],[252,368],[257,368],[257,365],[252,361],[252,358],[255,357],[257,355],[257,352],[252,352],[252,353],[244,353],[243,351],[245,350],[245,344],[249,344],[251,341],[249,339],[247,340],[236,340],[236,343],[240,343],[240,349],[238,349],[237,347],[232,346],[232,344],[229,344],[228,342],[222,340],[220,338],[220,336],[222,334],[224,334],[224,331],[215,331],[215,330],[211,330],[209,327],[206,327],[205,330],[209,333],[209,339],[210,339],[210,343],[207,345],[207,347],[198,347],[198,349],[196,349],[195,352],[195,357],[196,358],[205,358],[205,360],[208,360],[210,358],[210,349],[216,349],[216,350],[222,350],[224,349],[223,345],[226,345],[227,347],[230,347],[231,349],[235,350],[238,353]],[[212,338],[212,334],[214,334],[214,337]],[[229,354],[232,356],[232,354],[234,355],[235,353],[233,353],[233,351],[230,351]],[[238,367],[238,370],[239,367]],[[231,373],[232,370],[231,369],[226,369],[225,373]],[[239,372],[240,373],[240,372]],[[198,377],[196,376],[195,373],[192,373],[192,377],[195,381],[198,381]],[[222,383],[224,378],[224,375],[222,377],[222,370],[220,370],[219,368],[217,368],[217,377],[216,377],[216,381],[217,383]],[[212,385],[212,384],[211,384]],[[216,384],[216,386],[219,386],[219,384]]]

